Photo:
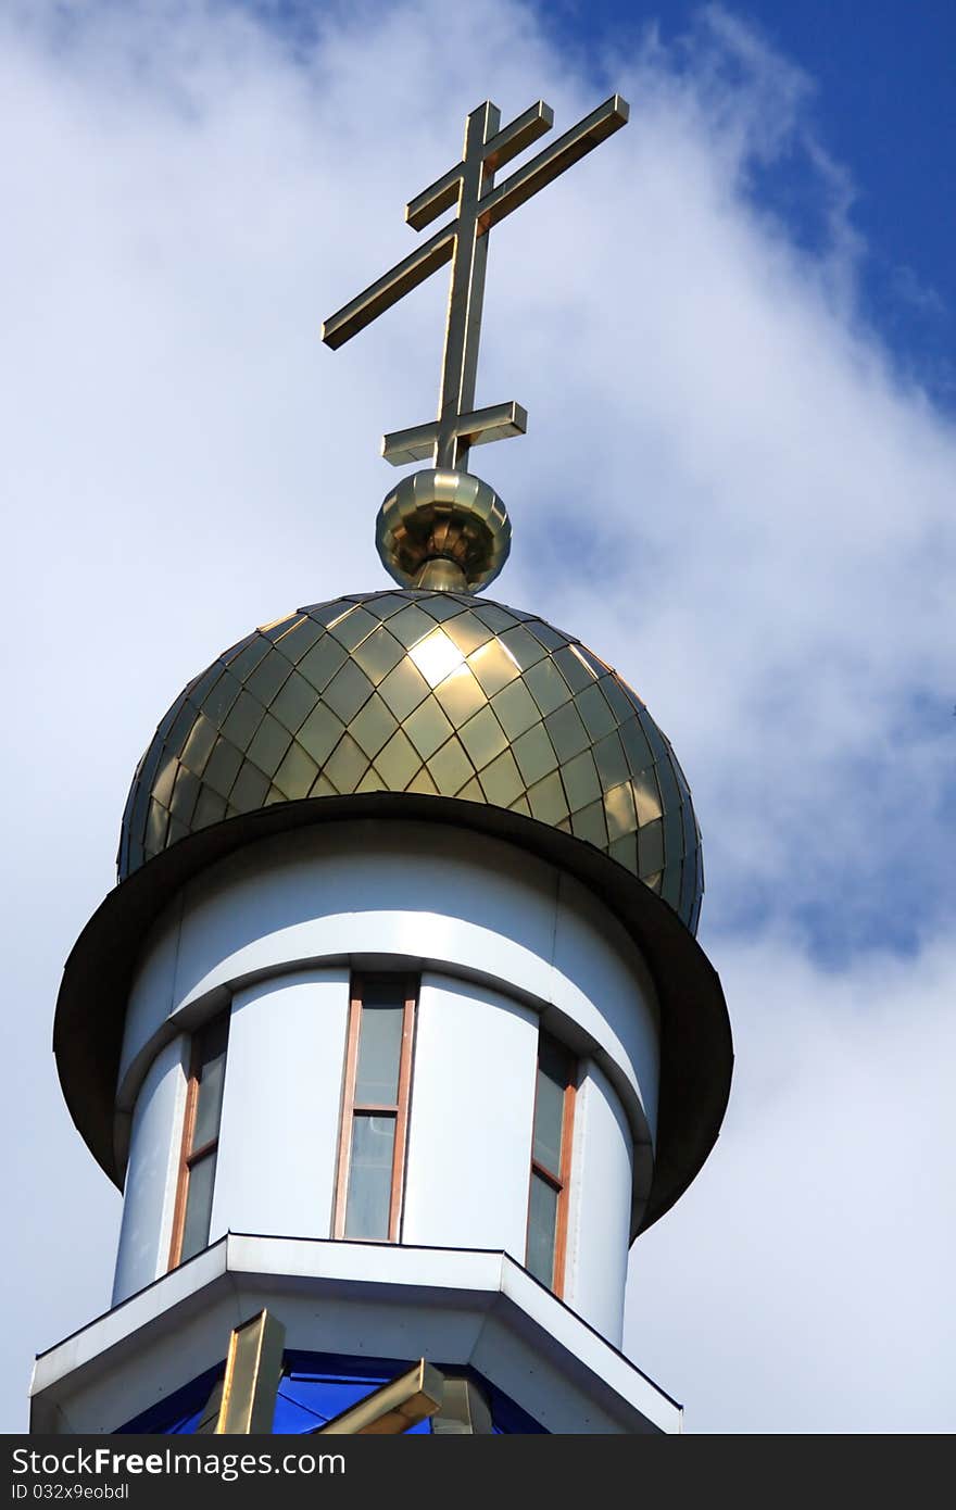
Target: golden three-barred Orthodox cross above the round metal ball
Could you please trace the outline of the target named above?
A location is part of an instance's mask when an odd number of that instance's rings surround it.
[[[430,453],[433,467],[464,470],[473,445],[507,435],[524,435],[527,414],[520,403],[512,400],[486,409],[474,408],[488,233],[625,125],[627,118],[627,101],[621,95],[612,95],[495,187],[495,172],[548,131],[554,113],[539,100],[501,130],[500,112],[486,100],[465,122],[461,162],[405,207],[405,219],[415,231],[455,202],[456,217],[325,322],[325,344],[334,349],[343,346],[438,267],[452,263],[438,418],[385,436],[382,455],[393,465],[423,461]]]

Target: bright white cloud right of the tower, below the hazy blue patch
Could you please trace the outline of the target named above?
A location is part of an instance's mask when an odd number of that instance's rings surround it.
[[[634,1247],[628,1335],[689,1431],[950,1431],[956,950],[720,951],[720,1140]]]

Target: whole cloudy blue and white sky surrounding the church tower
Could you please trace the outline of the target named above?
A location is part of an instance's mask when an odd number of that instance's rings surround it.
[[[628,1348],[689,1430],[953,1427],[954,29],[835,0],[0,11],[0,1425],[109,1300],[118,1197],[50,1030],[136,760],[251,625],[384,584],[379,436],[433,406],[446,288],[337,353],[320,322],[408,249],[467,109],[541,95],[563,130],[619,89],[628,128],[494,233],[479,402],[530,412],[480,453],[515,527],[494,593],[674,741],[734,1022]]]

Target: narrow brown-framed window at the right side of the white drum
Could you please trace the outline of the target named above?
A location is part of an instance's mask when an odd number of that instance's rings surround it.
[[[568,1240],[568,1184],[574,1126],[574,1060],[547,1033],[538,1042],[527,1211],[527,1268],[560,1296]]]

